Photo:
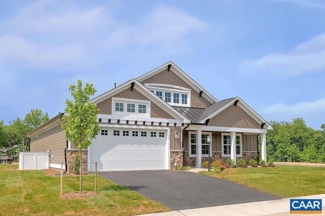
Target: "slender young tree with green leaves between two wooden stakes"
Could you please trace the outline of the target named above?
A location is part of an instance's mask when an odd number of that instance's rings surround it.
[[[66,100],[67,107],[64,109],[61,127],[67,139],[74,143],[80,155],[80,181],[79,192],[82,192],[82,150],[87,150],[91,140],[96,137],[100,128],[97,122],[99,109],[95,104],[88,102],[89,97],[95,94],[96,90],[92,84],[86,83],[82,89],[82,82],[70,85],[69,88],[74,101]]]

